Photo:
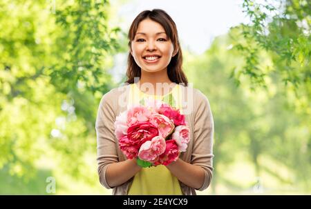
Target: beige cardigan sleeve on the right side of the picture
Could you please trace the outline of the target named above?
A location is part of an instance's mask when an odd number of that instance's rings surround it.
[[[213,177],[213,139],[214,119],[211,113],[209,100],[198,90],[196,95],[196,108],[194,112],[194,147],[191,163],[200,166],[205,171],[205,181],[198,190],[205,190]]]

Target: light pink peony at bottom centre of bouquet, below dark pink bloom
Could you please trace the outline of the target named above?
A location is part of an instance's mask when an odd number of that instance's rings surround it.
[[[146,141],[140,147],[138,157],[144,161],[153,162],[165,151],[166,143],[162,137],[153,137],[151,141]]]

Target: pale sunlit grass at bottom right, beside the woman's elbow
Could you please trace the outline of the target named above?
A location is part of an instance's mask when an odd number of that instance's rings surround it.
[[[219,164],[220,176],[214,176],[216,191],[210,185],[198,195],[310,195],[311,188],[299,188],[294,181],[294,172],[279,161],[267,156],[259,159],[261,172],[256,176],[254,165],[243,155],[230,165]],[[212,182],[213,183],[213,182]]]

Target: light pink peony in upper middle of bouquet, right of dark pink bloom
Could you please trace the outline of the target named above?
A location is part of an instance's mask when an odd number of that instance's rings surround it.
[[[156,126],[160,132],[160,136],[163,137],[164,139],[170,135],[175,126],[172,120],[170,120],[168,117],[165,115],[160,115],[158,113],[153,114],[149,117],[149,122],[153,125]]]

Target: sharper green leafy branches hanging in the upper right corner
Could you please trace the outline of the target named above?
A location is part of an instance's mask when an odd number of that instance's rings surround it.
[[[230,48],[243,58],[230,77],[237,86],[249,78],[252,90],[281,79],[284,86],[279,88],[291,98],[291,110],[301,118],[310,117],[310,2],[245,0],[243,8],[251,23],[229,31]]]

